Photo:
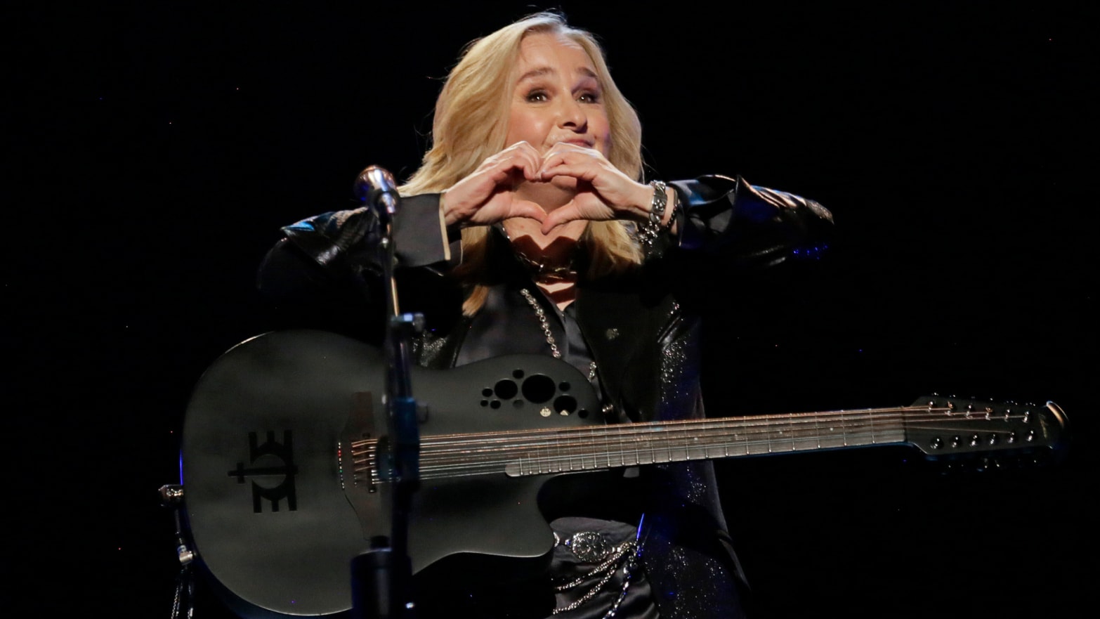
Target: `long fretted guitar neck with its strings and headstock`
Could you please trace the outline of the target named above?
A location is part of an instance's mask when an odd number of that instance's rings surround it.
[[[420,472],[529,476],[897,444],[930,456],[992,453],[1052,447],[1064,425],[1054,402],[928,397],[905,407],[426,436]]]

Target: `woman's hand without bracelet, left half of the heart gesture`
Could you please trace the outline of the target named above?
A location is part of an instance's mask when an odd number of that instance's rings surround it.
[[[448,225],[488,225],[516,217],[543,221],[547,213],[542,207],[515,194],[524,180],[540,180],[541,165],[541,155],[527,142],[517,142],[488,157],[447,189],[444,221]]]

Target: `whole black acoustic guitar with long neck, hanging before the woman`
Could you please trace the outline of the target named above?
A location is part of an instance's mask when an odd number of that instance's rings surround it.
[[[244,615],[351,608],[350,562],[389,532],[385,360],[322,331],[246,340],[201,376],[188,405],[182,483],[201,565]],[[537,495],[551,476],[662,462],[909,444],[933,457],[1046,452],[1054,402],[942,397],[912,406],[605,424],[585,376],[550,356],[415,368],[420,478],[414,572],[444,559],[540,562],[553,546]],[[255,612],[250,612],[250,611]]]

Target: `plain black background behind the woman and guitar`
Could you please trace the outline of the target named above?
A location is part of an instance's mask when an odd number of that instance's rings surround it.
[[[604,42],[651,177],[741,174],[835,214],[813,268],[724,291],[747,302],[708,323],[712,414],[935,391],[1070,417],[1068,460],[1038,468],[717,463],[763,617],[1070,617],[1092,586],[1085,11],[959,4],[557,4]],[[202,369],[268,328],[252,286],[278,226],[349,206],[366,165],[404,179],[460,47],[551,7],[8,9],[10,596],[168,616],[157,488]]]

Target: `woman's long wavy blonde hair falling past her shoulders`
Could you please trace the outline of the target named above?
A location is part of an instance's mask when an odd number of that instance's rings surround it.
[[[612,79],[595,36],[565,23],[562,15],[539,12],[472,41],[451,69],[436,100],[431,148],[420,167],[398,190],[402,195],[440,192],[472,173],[507,144],[510,85],[520,44],[528,34],[550,33],[579,44],[591,58],[610,124],[608,161],[627,176],[642,180],[641,122]],[[502,85],[508,85],[502,87]],[[476,281],[487,253],[487,226],[462,230],[462,265],[455,274],[472,285],[463,313],[484,305],[487,288]],[[622,221],[592,221],[581,237],[588,252],[588,277],[626,270],[641,262],[641,250]]]

